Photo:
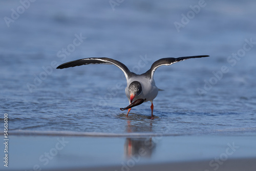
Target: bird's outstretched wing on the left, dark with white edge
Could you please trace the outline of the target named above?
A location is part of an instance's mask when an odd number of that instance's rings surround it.
[[[111,59],[111,58],[83,58],[78,60],[73,60],[70,62],[62,63],[60,66],[58,66],[56,69],[63,69],[63,68],[69,68],[69,67],[76,67],[76,66],[82,66],[82,65],[89,65],[89,64],[112,64],[117,66],[120,70],[123,71],[126,79],[132,76],[131,71],[121,62]]]

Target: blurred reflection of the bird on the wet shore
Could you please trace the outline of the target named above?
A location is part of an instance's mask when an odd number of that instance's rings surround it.
[[[152,131],[152,122],[150,126],[146,126]],[[131,127],[131,121],[127,121],[127,132],[133,132]],[[136,137],[136,138],[126,138],[124,143],[124,155],[126,158],[131,158],[133,156],[140,156],[145,158],[150,158],[156,148],[156,143],[152,140],[152,137]]]

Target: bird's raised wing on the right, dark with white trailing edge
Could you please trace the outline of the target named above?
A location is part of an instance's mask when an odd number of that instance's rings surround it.
[[[184,56],[184,57],[178,57],[178,58],[173,58],[173,57],[169,57],[169,58],[161,58],[157,61],[155,61],[150,70],[148,70],[145,74],[147,76],[149,76],[150,78],[153,78],[154,76],[154,73],[156,71],[156,69],[158,67],[161,67],[161,66],[169,66],[169,65],[172,65],[176,62],[179,62],[179,61],[182,61],[182,60],[186,60],[186,59],[190,59],[190,58],[201,58],[201,57],[208,57],[209,55],[198,55],[198,56]]]

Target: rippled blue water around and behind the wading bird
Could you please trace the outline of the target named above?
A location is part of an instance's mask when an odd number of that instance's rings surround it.
[[[2,18],[20,6],[19,1],[0,4]],[[178,32],[174,22],[180,23],[181,14],[197,4],[124,1],[113,11],[108,1],[36,1],[10,27],[2,19],[0,110],[9,116],[9,130],[90,135],[255,132],[256,47],[247,45],[250,50],[242,57],[229,58],[243,52],[247,40],[256,40],[255,2],[206,1]],[[87,38],[67,55],[58,55],[80,34]],[[55,69],[56,63],[97,56],[143,73],[159,58],[190,55],[210,57],[155,72],[164,91],[154,100],[154,120],[148,119],[150,102],[133,108],[129,118],[119,110],[129,101],[124,75],[115,66]]]

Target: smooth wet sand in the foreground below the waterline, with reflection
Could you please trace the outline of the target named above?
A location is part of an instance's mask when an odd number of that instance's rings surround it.
[[[254,170],[255,133],[151,137],[10,136],[1,170]]]

